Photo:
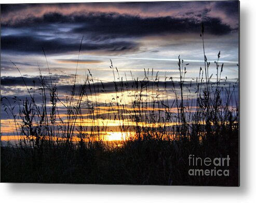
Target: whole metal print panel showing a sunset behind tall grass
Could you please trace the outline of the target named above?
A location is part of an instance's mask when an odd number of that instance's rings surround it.
[[[239,186],[239,2],[1,5],[1,182]]]

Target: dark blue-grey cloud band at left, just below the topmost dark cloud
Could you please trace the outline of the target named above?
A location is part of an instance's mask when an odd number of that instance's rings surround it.
[[[76,41],[76,42],[74,42]],[[1,50],[19,53],[46,54],[68,53],[79,51],[80,41],[74,39],[44,39],[36,36],[2,36]],[[109,44],[84,43],[82,51],[126,52],[138,50],[138,43],[132,41],[114,41]]]

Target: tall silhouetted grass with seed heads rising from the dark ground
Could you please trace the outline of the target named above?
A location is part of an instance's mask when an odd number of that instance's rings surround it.
[[[203,26],[201,37],[204,47]],[[15,96],[12,102],[1,98],[16,134],[21,136],[17,146],[1,146],[1,182],[237,186],[238,84],[221,78],[220,52],[213,81],[203,49],[204,70],[200,67],[191,82],[185,80],[188,64],[180,56],[178,81],[172,77],[160,81],[158,72],[149,69],[144,69],[143,80],[131,74],[132,81],[128,81],[111,61],[115,91],[103,106],[99,94],[107,93],[107,88],[95,81],[89,70],[81,85],[76,84],[75,74],[65,99],[58,95],[49,67],[49,78],[39,71],[39,89],[35,81],[29,89],[21,75],[29,97],[21,100]],[[169,97],[169,86],[174,99]],[[35,99],[38,90],[42,97],[39,103]],[[232,99],[235,110],[231,110]],[[66,110],[66,119],[60,115],[60,106]],[[91,121],[89,126],[83,124],[86,120]],[[102,134],[111,129],[107,123],[102,125],[102,120],[116,121],[119,132],[132,136],[122,145],[110,147]],[[230,177],[188,176],[190,154],[212,159],[230,155],[230,166],[225,167]]]

